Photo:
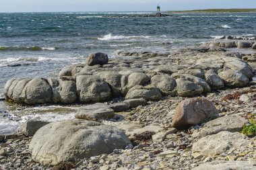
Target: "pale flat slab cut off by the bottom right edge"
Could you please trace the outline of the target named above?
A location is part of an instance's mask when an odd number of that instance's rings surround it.
[[[230,170],[230,169],[243,169],[243,170],[255,170],[256,167],[249,165],[249,163],[242,161],[214,161],[211,163],[205,163],[193,168],[192,170]]]

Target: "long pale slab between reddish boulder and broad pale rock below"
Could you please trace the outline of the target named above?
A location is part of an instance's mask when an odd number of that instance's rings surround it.
[[[249,123],[249,121],[241,116],[224,116],[207,122],[203,128],[201,128],[199,132],[194,133],[193,136],[201,138],[210,134],[217,134],[221,131],[239,132],[247,123]]]

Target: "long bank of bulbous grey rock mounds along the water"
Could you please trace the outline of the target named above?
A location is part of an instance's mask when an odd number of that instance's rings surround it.
[[[38,104],[91,103],[121,96],[146,100],[162,95],[193,97],[223,87],[245,87],[253,76],[241,56],[218,47],[119,54],[129,57],[111,58],[104,65],[70,65],[57,79],[11,79],[5,85],[5,99]],[[134,89],[137,85],[142,87]]]

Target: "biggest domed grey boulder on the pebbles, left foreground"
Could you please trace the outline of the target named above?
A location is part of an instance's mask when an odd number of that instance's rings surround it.
[[[129,138],[113,126],[86,120],[53,122],[34,134],[29,151],[33,161],[42,165],[75,163],[115,148],[131,144]]]

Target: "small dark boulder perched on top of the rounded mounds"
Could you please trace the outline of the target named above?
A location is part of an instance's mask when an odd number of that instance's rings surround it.
[[[89,54],[87,64],[93,65],[105,65],[108,63],[108,55],[102,52],[96,52]]]

